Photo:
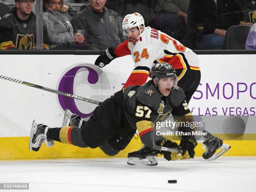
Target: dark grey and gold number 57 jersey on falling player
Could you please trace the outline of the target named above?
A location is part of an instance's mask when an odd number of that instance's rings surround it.
[[[152,80],[149,80],[142,86],[126,87],[123,92],[125,118],[133,129],[137,128],[144,144],[145,140],[151,139],[148,133],[154,130],[154,122],[162,122],[171,114],[178,117],[177,120],[193,120],[180,87],[172,87],[170,94],[161,98]]]

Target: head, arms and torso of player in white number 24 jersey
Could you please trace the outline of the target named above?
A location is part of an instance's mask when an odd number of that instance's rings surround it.
[[[192,50],[165,33],[144,25],[144,19],[139,13],[126,15],[122,26],[128,40],[118,47],[105,50],[97,58],[95,65],[104,67],[117,57],[131,55],[135,66],[123,88],[145,83],[155,60],[167,62],[175,70],[179,69],[179,79],[187,70],[197,71],[197,79],[200,79],[199,61]]]

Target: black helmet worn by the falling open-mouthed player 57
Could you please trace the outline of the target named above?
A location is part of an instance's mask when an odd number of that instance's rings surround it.
[[[177,86],[177,75],[176,71],[170,65],[169,63],[159,63],[159,62],[154,62],[154,65],[151,69],[151,75],[152,77],[156,77],[156,80],[158,81],[160,77],[173,77],[174,78],[174,84],[173,86]]]

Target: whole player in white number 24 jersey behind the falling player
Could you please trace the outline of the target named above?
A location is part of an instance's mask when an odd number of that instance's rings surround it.
[[[131,85],[143,85],[148,76],[151,76],[150,71],[154,62],[169,63],[176,70],[178,85],[184,90],[186,101],[189,103],[201,78],[197,55],[164,32],[145,27],[144,19],[138,12],[126,15],[122,27],[128,40],[115,48],[109,47],[102,52],[95,61],[95,65],[104,67],[117,57],[131,55],[135,66],[123,86],[125,88]],[[222,147],[223,141],[209,133],[207,138],[203,139],[203,144],[206,145],[203,157],[211,159],[216,157],[214,154]],[[128,158],[143,159],[147,153],[152,154],[154,150],[143,147],[137,152],[129,153]]]

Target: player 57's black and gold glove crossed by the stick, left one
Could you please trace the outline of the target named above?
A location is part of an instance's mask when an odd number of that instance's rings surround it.
[[[172,149],[177,149],[180,151],[183,151],[182,147],[179,147],[179,145],[176,142],[172,142],[170,140],[164,140],[164,141],[157,141],[156,145],[160,145],[161,147],[168,147]],[[164,155],[164,159],[170,161],[170,160],[178,160],[182,159],[182,155],[175,152],[169,152],[169,151],[160,151],[159,154]]]

